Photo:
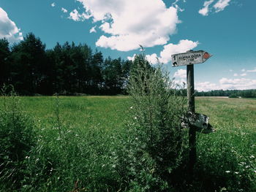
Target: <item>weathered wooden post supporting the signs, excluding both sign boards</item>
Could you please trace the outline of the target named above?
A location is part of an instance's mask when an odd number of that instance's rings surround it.
[[[189,112],[195,112],[194,95],[194,65],[187,65],[187,100]],[[194,126],[189,127],[189,171],[193,174],[196,161],[196,131]]]

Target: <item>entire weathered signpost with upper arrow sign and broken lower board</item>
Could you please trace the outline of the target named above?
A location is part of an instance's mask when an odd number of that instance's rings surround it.
[[[188,51],[172,55],[173,66],[187,66],[187,102],[188,117],[184,127],[189,128],[189,171],[192,174],[196,162],[196,131],[210,133],[214,131],[208,123],[208,117],[195,113],[194,64],[205,62],[211,55],[206,51]]]

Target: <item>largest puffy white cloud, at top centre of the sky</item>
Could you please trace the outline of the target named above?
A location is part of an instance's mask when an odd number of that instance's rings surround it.
[[[96,45],[112,50],[165,45],[180,23],[178,9],[167,8],[162,0],[77,1],[83,4],[94,22],[102,22],[99,28],[110,35],[99,37]]]

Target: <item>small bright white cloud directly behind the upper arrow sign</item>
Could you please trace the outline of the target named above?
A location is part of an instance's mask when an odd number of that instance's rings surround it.
[[[160,58],[159,60],[167,64],[167,62],[170,61],[171,55],[176,54],[176,53],[184,53],[187,50],[192,50],[193,48],[197,47],[199,42],[192,42],[190,40],[180,40],[177,45],[174,45],[172,43],[165,45],[164,50],[161,51],[160,53]]]

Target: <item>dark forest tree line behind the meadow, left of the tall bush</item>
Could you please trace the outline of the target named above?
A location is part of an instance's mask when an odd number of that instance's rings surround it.
[[[132,61],[103,58],[86,44],[45,44],[27,34],[23,41],[10,46],[0,39],[0,86],[13,85],[21,95],[126,93]]]

